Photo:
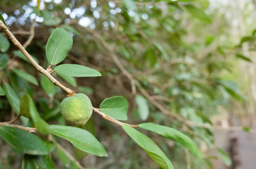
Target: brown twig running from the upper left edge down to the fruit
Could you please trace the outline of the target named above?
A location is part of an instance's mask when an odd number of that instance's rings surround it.
[[[6,25],[4,25],[4,23],[0,20],[0,28],[2,30],[4,30],[6,36],[11,39],[11,42],[13,42],[14,46],[18,47],[18,49],[20,49],[20,51],[25,55],[26,58],[28,58],[28,61],[30,61],[30,63],[42,74],[44,74],[48,79],[50,79],[52,81],[53,84],[55,84],[56,86],[64,89],[64,91],[66,91],[66,93],[68,93],[69,96],[74,95],[74,91],[69,89],[68,87],[65,87],[63,84],[61,84],[58,80],[56,80],[54,77],[52,77],[52,75],[50,75],[50,73],[47,73],[47,71],[42,68],[42,66],[38,65],[35,60],[30,56],[30,54],[28,54],[28,51],[25,50],[25,48],[21,45],[20,42],[18,42],[18,40],[16,39],[16,37],[14,37],[14,35],[11,33],[10,30],[8,30],[8,27],[6,27]]]

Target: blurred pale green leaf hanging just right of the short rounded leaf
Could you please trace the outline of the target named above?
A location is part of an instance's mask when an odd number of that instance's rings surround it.
[[[149,117],[149,106],[146,102],[146,99],[144,98],[144,96],[137,94],[135,96],[135,101],[138,105],[139,117],[141,118],[141,120],[145,121]]]

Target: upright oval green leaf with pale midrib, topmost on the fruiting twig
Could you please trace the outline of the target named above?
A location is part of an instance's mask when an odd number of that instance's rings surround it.
[[[62,62],[66,58],[72,44],[73,39],[69,32],[57,27],[50,35],[46,44],[47,61],[52,65]]]

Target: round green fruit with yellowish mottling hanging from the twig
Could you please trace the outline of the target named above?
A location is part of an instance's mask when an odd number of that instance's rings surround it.
[[[74,125],[85,125],[91,118],[93,106],[86,94],[66,97],[60,104],[63,118]]]

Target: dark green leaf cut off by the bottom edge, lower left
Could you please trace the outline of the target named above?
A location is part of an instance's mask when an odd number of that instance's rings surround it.
[[[22,169],[53,169],[56,168],[49,156],[31,156],[25,154]]]

